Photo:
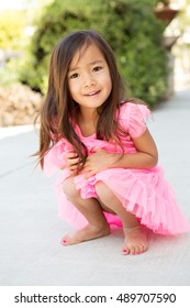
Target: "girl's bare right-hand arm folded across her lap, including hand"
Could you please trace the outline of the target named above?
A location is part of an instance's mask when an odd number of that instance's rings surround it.
[[[90,177],[107,168],[141,169],[156,166],[158,152],[149,131],[146,129],[144,134],[139,138],[133,139],[133,142],[137,153],[122,155],[108,153],[104,150],[98,150],[87,158],[82,172],[88,172],[87,177]]]

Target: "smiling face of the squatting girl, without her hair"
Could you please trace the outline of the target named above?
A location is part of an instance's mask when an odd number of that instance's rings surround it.
[[[82,112],[94,111],[108,99],[112,89],[110,70],[94,44],[75,54],[68,70],[68,87]]]

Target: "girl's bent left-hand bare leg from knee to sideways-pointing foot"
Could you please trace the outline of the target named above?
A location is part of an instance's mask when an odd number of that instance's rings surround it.
[[[82,199],[71,177],[64,182],[63,189],[68,200],[85,216],[88,224],[78,231],[70,232],[62,239],[64,245],[77,244],[110,234],[110,227],[98,200]]]

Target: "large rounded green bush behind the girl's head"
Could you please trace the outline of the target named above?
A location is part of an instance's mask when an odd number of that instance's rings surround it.
[[[130,95],[153,108],[167,86],[164,25],[154,15],[156,0],[55,0],[36,23],[21,79],[45,92],[49,54],[70,31],[93,29],[115,52]]]

